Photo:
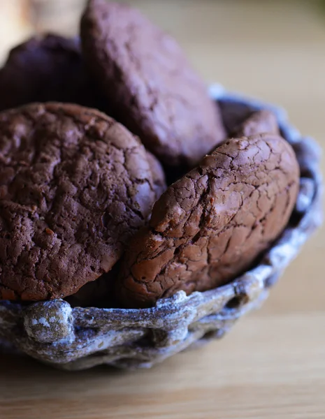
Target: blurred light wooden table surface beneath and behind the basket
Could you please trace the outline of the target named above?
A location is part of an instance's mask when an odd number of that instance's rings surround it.
[[[325,146],[325,15],[312,2],[134,3],[175,34],[206,80],[280,103]],[[3,356],[0,418],[324,419],[324,247],[323,228],[263,309],[151,370],[66,373]]]

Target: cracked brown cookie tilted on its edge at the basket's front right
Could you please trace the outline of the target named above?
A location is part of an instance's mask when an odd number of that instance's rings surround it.
[[[299,168],[278,135],[232,139],[168,187],[150,226],[131,241],[117,295],[147,307],[184,290],[226,284],[249,268],[287,225]]]

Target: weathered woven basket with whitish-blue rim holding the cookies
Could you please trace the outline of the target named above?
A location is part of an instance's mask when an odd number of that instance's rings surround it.
[[[121,368],[151,367],[171,355],[219,339],[233,323],[259,307],[301,246],[322,222],[320,150],[287,122],[285,112],[259,101],[210,88],[219,101],[225,124],[243,119],[248,111],[270,109],[282,135],[293,145],[301,167],[301,188],[291,221],[259,264],[231,284],[205,293],[159,300],[152,309],[72,308],[64,300],[28,306],[0,302],[3,348],[61,369],[85,369],[108,364]]]

